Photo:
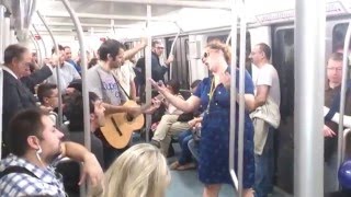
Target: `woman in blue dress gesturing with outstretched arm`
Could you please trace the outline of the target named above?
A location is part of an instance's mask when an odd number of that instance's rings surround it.
[[[165,97],[177,108],[183,112],[194,112],[203,105],[206,111],[202,121],[199,178],[205,184],[204,197],[217,197],[222,184],[233,184],[229,173],[229,106],[230,93],[228,91],[229,74],[226,73],[228,62],[230,62],[230,49],[222,43],[210,43],[206,47],[203,61],[207,65],[213,77],[205,78],[197,86],[190,99],[183,101],[172,95],[165,85],[159,86],[151,81]],[[239,71],[236,70],[237,76]],[[238,80],[237,78],[237,88]],[[253,107],[253,84],[248,72],[245,76],[245,100],[249,109]],[[237,108],[238,104],[236,103]],[[238,111],[236,112],[238,119]],[[236,128],[237,130],[237,128]],[[237,134],[237,132],[236,132]],[[238,138],[236,138],[238,139]],[[244,135],[244,195],[253,196],[251,189],[254,183],[254,158],[253,158],[253,125],[248,111],[245,114],[245,135]],[[238,142],[236,142],[238,144]],[[238,150],[238,149],[236,149]],[[234,158],[237,158],[237,152]],[[236,160],[237,161],[237,160]],[[237,170],[237,167],[236,167]]]

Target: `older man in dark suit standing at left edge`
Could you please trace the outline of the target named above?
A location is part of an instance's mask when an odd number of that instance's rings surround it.
[[[36,107],[36,100],[26,86],[21,82],[21,78],[25,73],[27,63],[32,60],[31,53],[21,45],[10,45],[4,50],[2,66],[3,69],[3,113],[2,113],[2,157],[7,155],[7,137],[10,119],[21,109]],[[52,71],[45,68],[45,74],[52,74]],[[31,77],[24,77],[22,80],[33,82]]]

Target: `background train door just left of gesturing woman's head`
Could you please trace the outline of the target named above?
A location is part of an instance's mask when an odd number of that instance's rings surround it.
[[[166,53],[169,54],[171,50],[172,43],[174,37],[170,37],[166,39]],[[178,79],[181,84],[181,89],[189,90],[189,37],[182,36],[176,40],[173,55],[174,61],[172,62],[171,71],[168,72],[169,79]],[[171,74],[171,78],[170,78]]]

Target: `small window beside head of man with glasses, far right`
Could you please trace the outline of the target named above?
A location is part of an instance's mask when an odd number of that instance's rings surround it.
[[[332,51],[342,51],[348,26],[349,23],[340,23],[332,28]]]

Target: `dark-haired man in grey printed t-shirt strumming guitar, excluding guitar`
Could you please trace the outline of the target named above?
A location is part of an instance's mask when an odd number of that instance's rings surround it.
[[[144,45],[145,47],[146,45]],[[88,91],[94,92],[102,99],[105,115],[115,113],[135,114],[139,107],[123,106],[126,96],[123,93],[117,79],[112,70],[122,66],[124,61],[124,46],[115,39],[107,39],[100,46],[100,60],[97,66],[88,70]],[[115,149],[104,143],[103,158],[105,169],[120,155],[126,148]]]

